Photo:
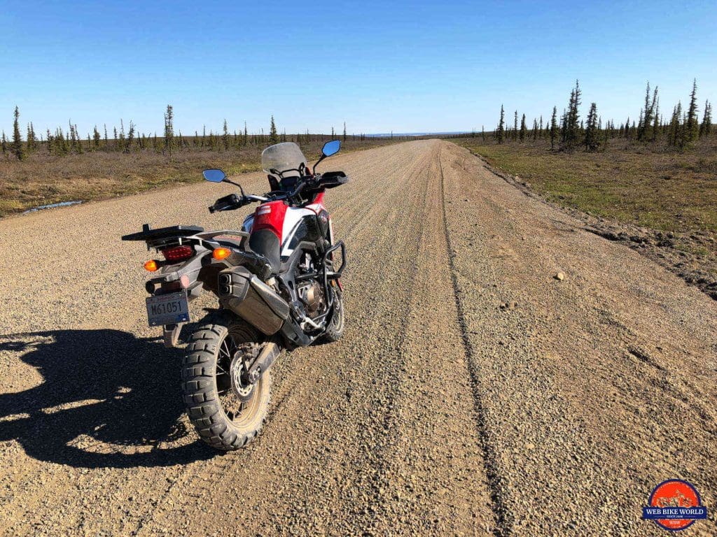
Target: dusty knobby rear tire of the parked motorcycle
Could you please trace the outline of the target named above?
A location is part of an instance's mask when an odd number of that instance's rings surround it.
[[[206,324],[191,335],[181,372],[182,397],[196,432],[212,448],[242,448],[262,427],[269,407],[271,371],[262,374],[250,395],[239,400],[227,366],[237,345],[260,342],[252,326],[230,318],[227,324]]]

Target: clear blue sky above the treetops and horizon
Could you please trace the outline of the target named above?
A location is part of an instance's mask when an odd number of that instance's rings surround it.
[[[261,4],[261,5],[260,5]],[[717,8],[708,2],[5,1],[0,127],[133,120],[185,134],[415,132],[492,128],[501,103],[547,116],[575,79],[584,111],[640,110],[645,82],[666,114],[717,100]]]

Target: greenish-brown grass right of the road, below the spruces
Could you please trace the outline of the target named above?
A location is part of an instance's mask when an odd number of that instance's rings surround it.
[[[612,140],[597,153],[549,144],[453,140],[546,197],[597,216],[678,233],[717,231],[717,137],[679,153]]]

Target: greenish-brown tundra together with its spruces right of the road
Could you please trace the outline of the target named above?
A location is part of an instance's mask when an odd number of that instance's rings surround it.
[[[635,117],[605,120],[596,102],[581,115],[582,89],[571,90],[562,114],[554,107],[518,126],[500,120],[492,132],[454,141],[488,163],[518,175],[550,200],[595,216],[660,231],[717,232],[717,135],[712,105],[698,103],[693,82],[687,106],[660,108],[648,82]]]

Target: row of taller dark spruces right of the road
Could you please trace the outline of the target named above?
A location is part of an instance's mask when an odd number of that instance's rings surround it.
[[[567,107],[558,115],[558,107],[553,107],[550,119],[543,122],[543,116],[533,118],[532,127],[526,123],[526,115],[521,116],[518,126],[518,111],[513,115],[513,126],[505,120],[505,109],[500,105],[500,119],[493,132],[486,134],[485,128],[480,136],[487,140],[493,139],[502,144],[507,140],[524,142],[526,140],[550,140],[551,150],[573,151],[580,147],[586,151],[597,151],[607,147],[609,140],[624,138],[637,140],[637,142],[655,143],[663,141],[669,147],[680,150],[689,149],[696,140],[712,132],[712,105],[705,102],[702,118],[698,116],[697,80],[693,81],[690,92],[689,105],[683,110],[681,102],[673,107],[669,120],[660,113],[660,97],[655,89],[650,89],[647,82],[645,90],[645,104],[637,118],[627,117],[619,127],[614,120],[602,121],[598,114],[597,103],[591,102],[587,116],[580,116],[582,104],[582,90],[579,81],[571,89]],[[475,137],[475,131],[472,133]]]

